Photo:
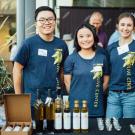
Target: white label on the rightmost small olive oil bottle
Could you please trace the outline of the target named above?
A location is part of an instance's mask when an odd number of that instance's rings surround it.
[[[88,112],[81,113],[81,129],[88,129]]]

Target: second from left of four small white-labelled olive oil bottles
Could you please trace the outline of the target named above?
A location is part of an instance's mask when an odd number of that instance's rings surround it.
[[[71,132],[71,112],[69,108],[69,101],[65,102],[64,112],[63,112],[63,129],[64,132]]]

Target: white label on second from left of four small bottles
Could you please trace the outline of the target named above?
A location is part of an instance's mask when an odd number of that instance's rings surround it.
[[[64,129],[71,129],[71,113],[64,113]]]

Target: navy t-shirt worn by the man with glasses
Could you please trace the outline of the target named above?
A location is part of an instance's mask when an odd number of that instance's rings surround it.
[[[58,50],[62,54],[62,61],[55,64],[56,59],[52,56]],[[24,66],[23,90],[25,93],[32,93],[32,103],[36,98],[37,89],[39,89],[43,101],[47,96],[48,89],[55,93],[60,77],[59,68],[63,66],[67,56],[67,45],[57,37],[54,37],[53,41],[47,42],[39,35],[35,35],[22,43],[15,61]]]

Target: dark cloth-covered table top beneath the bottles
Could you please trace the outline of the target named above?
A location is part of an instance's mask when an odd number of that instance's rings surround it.
[[[130,130],[130,124],[135,124],[135,119],[120,119],[120,125],[122,126],[121,131],[116,131],[113,127],[112,131],[107,131],[106,127],[103,131],[99,131],[97,127],[97,120],[96,119],[89,119],[89,132],[88,133],[79,133],[80,135],[134,135]],[[47,131],[44,131],[44,134],[49,134]],[[54,133],[56,135],[73,135],[75,133]],[[38,135],[33,131],[33,135]]]

